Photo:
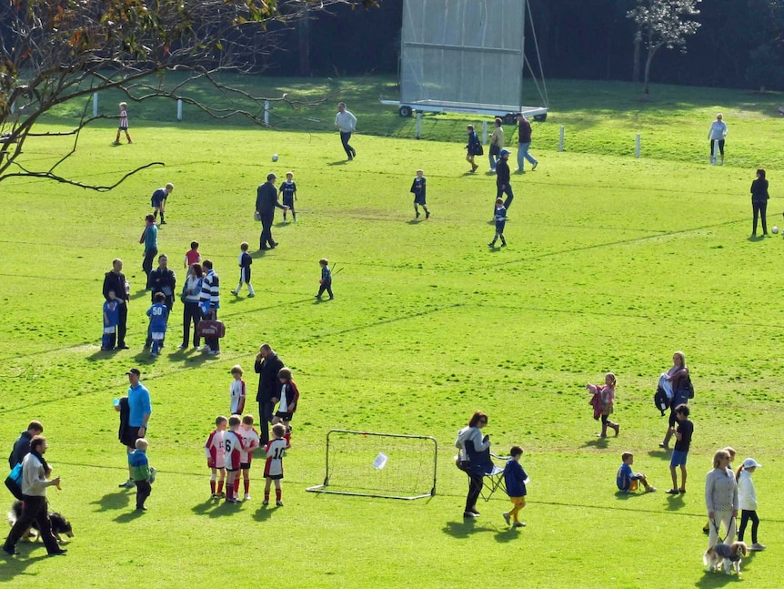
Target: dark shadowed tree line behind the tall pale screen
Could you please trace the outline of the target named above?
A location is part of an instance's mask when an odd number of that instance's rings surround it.
[[[637,0],[529,0],[548,77],[632,80]],[[349,16],[347,7],[311,20],[307,36],[289,33],[274,71],[293,75],[397,72],[403,0]],[[706,0],[688,51],[662,49],[651,81],[784,90],[784,0]],[[307,41],[307,44],[305,42]],[[529,59],[535,56],[527,36]],[[301,47],[309,60],[300,59]],[[640,52],[645,59],[645,50]],[[644,66],[644,63],[642,64]]]

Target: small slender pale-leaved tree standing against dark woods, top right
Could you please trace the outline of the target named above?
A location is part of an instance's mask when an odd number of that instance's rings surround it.
[[[637,25],[636,38],[648,50],[643,75],[643,92],[649,93],[650,64],[661,47],[680,47],[686,52],[686,37],[699,28],[689,17],[699,15],[697,5],[701,0],[638,0],[637,6],[628,11],[627,17]]]

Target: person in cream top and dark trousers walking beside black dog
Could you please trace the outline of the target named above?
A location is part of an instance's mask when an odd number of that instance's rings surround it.
[[[49,506],[46,502],[46,487],[60,484],[60,477],[48,480],[52,469],[44,459],[46,452],[46,438],[35,436],[30,441],[30,452],[22,462],[22,515],[16,520],[11,532],[3,544],[3,552],[9,555],[18,554],[16,543],[32,523],[38,526],[38,533],[46,546],[49,556],[58,556],[68,552],[57,545],[57,540],[52,533],[52,523],[49,522]]]

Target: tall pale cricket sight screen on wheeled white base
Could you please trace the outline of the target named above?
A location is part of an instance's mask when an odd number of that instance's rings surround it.
[[[547,90],[525,56],[527,15],[528,0],[404,0],[400,100],[381,103],[401,117],[461,113],[511,124],[522,113],[545,120]],[[522,105],[526,66],[543,107]]]

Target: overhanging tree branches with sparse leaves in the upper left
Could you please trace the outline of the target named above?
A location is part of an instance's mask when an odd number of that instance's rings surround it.
[[[381,0],[5,0],[0,4],[0,181],[15,176],[49,178],[109,190],[153,162],[130,170],[109,186],[65,178],[58,168],[75,153],[82,129],[98,118],[87,114],[89,96],[106,89],[129,101],[182,99],[213,117],[246,117],[263,124],[268,99],[226,86],[223,72],[259,71],[276,48],[275,31],[298,18],[337,5],[373,6]],[[186,81],[166,89],[166,72]],[[188,81],[207,81],[223,96],[242,98],[250,108],[215,107],[187,96]],[[53,107],[83,100],[85,110],[70,130],[37,133],[36,124]],[[285,95],[293,107],[306,104]],[[63,156],[51,167],[30,168],[25,141],[40,135],[68,137]]]

